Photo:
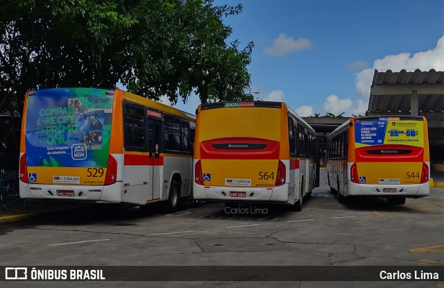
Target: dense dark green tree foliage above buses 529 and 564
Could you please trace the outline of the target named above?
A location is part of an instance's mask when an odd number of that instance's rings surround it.
[[[0,112],[26,90],[115,87],[172,103],[253,99],[253,43],[227,43],[238,6],[213,0],[4,0],[0,3]]]

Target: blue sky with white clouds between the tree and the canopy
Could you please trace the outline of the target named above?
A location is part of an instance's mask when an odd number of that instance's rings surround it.
[[[241,3],[230,40],[253,41],[251,90],[302,117],[364,115],[375,69],[444,70],[443,0],[216,0]],[[198,97],[176,108],[194,113]]]

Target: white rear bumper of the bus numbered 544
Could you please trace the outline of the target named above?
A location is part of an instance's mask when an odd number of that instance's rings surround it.
[[[388,192],[395,189],[395,192]],[[377,196],[382,198],[406,197],[420,198],[428,196],[429,183],[411,185],[382,185],[382,184],[357,184],[348,181],[348,195],[352,196]],[[348,196],[346,195],[346,196]]]

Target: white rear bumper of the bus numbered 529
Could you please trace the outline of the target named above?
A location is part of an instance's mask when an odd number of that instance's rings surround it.
[[[112,185],[47,185],[30,184],[19,180],[19,193],[22,199],[64,200],[64,201],[94,201],[106,203],[121,202],[122,183]],[[58,196],[58,192],[74,192],[74,196]]]

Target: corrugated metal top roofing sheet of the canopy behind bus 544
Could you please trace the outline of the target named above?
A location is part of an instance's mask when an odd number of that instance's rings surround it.
[[[407,72],[404,69],[399,72],[375,70],[373,75],[372,86],[409,84],[444,84],[444,71],[435,71],[435,69],[430,69],[429,71],[416,69],[413,72]]]

